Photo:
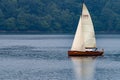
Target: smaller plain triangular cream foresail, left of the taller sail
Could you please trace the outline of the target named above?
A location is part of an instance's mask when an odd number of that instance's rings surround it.
[[[84,40],[83,40],[83,33],[82,33],[82,26],[81,26],[81,17],[78,23],[78,27],[76,30],[76,34],[73,40],[72,48],[73,51],[85,51]]]

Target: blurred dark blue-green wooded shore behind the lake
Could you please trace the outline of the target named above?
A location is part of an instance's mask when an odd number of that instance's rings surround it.
[[[0,32],[74,33],[82,0],[0,0]],[[120,0],[85,0],[96,32],[120,33]]]

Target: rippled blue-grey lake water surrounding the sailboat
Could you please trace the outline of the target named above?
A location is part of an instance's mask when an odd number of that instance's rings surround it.
[[[97,35],[102,57],[67,55],[73,35],[0,35],[0,80],[120,80],[120,35]]]

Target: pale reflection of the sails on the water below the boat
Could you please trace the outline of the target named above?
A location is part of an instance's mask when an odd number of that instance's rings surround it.
[[[95,57],[71,57],[76,80],[94,80]]]

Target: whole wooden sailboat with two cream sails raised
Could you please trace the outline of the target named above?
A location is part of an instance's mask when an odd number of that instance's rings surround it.
[[[101,56],[104,50],[97,50],[95,31],[90,13],[85,3],[82,3],[82,14],[79,19],[69,56]]]

